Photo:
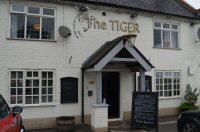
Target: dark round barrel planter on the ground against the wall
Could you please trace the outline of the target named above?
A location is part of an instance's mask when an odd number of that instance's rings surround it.
[[[56,118],[58,132],[71,132],[75,125],[74,116],[60,116]]]

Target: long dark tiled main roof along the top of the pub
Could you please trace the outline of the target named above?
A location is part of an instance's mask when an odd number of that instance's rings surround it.
[[[163,13],[187,18],[199,18],[182,0],[73,0],[95,5],[136,11]]]

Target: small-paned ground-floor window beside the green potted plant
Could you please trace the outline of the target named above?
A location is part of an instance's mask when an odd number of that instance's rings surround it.
[[[156,71],[155,84],[160,97],[180,96],[179,71]]]

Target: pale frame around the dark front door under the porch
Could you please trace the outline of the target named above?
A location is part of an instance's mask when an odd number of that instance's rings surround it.
[[[123,70],[121,69],[103,69],[102,72],[119,73],[119,118],[108,119],[108,121],[123,120]]]

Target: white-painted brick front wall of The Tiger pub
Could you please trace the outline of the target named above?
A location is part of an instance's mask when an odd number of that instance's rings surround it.
[[[10,13],[9,3],[22,3],[35,6],[56,8],[56,41],[26,41],[10,40]],[[64,8],[64,11],[63,11]],[[102,12],[107,13],[102,16]],[[81,65],[82,63],[103,43],[126,34],[119,31],[89,29],[84,33],[83,38],[76,38],[73,33],[73,21],[77,15],[77,9],[71,5],[60,5],[30,1],[0,1],[0,93],[9,100],[8,89],[8,69],[9,68],[31,68],[31,69],[55,69],[56,87],[55,87],[55,105],[45,107],[24,107],[23,117],[45,118],[61,115],[81,115]],[[64,13],[63,13],[64,12]],[[130,19],[130,14],[116,13],[103,9],[90,9],[89,15],[97,17],[100,21],[108,22],[110,19],[120,21],[134,21]],[[153,48],[153,20],[174,21],[180,23],[181,49],[157,49]],[[153,77],[154,89],[154,71],[155,70],[181,70],[182,84],[181,92],[184,94],[186,84],[200,89],[200,67],[199,67],[199,44],[195,44],[193,29],[187,20],[175,17],[168,18],[161,15],[139,15],[136,20],[140,26],[140,33],[137,35],[135,46],[150,59],[155,66],[151,72],[146,74]],[[59,36],[57,29],[65,25],[72,30],[72,36],[63,39]],[[72,61],[69,63],[69,58]],[[196,67],[196,73],[188,76],[187,68],[189,65]],[[133,89],[132,74],[127,69],[122,69],[122,106],[123,111],[131,110],[131,94]],[[79,102],[74,104],[60,104],[60,78],[73,76],[79,78]],[[85,113],[90,114],[90,104],[95,103],[96,99],[96,75],[95,73],[85,73]],[[95,83],[90,84],[90,81]],[[93,96],[87,96],[87,90],[93,90]],[[130,98],[129,98],[130,97]],[[159,100],[159,107],[177,107],[182,98]],[[200,104],[200,102],[199,102]],[[30,114],[31,113],[31,114]]]

